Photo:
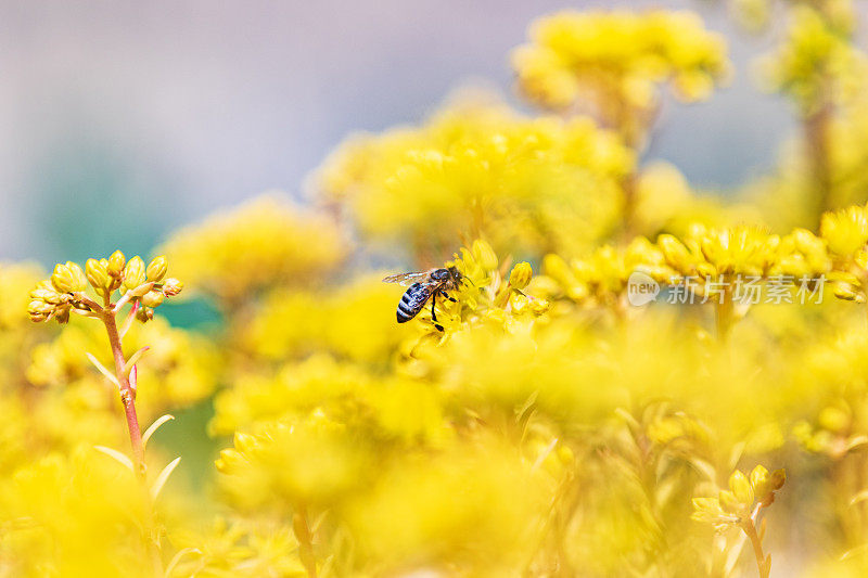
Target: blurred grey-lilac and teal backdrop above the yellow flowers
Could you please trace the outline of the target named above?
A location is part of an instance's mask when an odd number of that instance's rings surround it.
[[[146,255],[263,191],[302,198],[354,131],[418,123],[469,82],[518,103],[507,55],[528,22],[612,5],[0,0],[0,260]],[[699,11],[736,66],[710,102],[666,102],[647,157],[713,190],[773,166],[793,116],[749,64],[771,40],[739,29],[723,3],[617,5]]]

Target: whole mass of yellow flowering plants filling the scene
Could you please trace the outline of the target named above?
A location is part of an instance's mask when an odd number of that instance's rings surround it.
[[[858,76],[848,4],[783,4],[776,69]],[[514,62],[569,114],[459,102],[343,144],[328,217],[267,196],[150,264],[0,266],[0,576],[864,574],[868,209],[843,147],[868,107],[825,101],[828,158],[790,153],[766,205],[640,168],[661,85],[705,95],[725,52],[688,13],[554,14]],[[407,287],[337,271],[349,224],[392,273],[456,271],[449,298],[397,323]],[[218,327],[135,323],[181,290],[169,260]],[[742,299],[803,279],[804,305]]]

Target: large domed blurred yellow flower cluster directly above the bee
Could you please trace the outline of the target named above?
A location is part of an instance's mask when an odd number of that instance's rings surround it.
[[[585,117],[528,118],[463,101],[424,126],[350,139],[321,167],[322,194],[375,240],[420,260],[448,256],[460,235],[503,251],[565,251],[615,226],[633,153]]]

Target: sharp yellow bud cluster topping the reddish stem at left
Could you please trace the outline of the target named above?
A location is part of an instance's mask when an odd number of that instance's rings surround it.
[[[166,278],[166,257],[153,259],[146,267],[141,257],[127,260],[119,251],[107,259],[88,259],[85,270],[78,264],[66,261],[54,267],[49,279],[40,281],[30,292],[27,312],[35,322],[55,319],[66,323],[71,312],[97,313],[102,307],[111,308],[112,295],[118,291],[126,301],[139,301],[137,318],[153,319],[153,309],[166,297],[178,295],[183,283]],[[87,295],[88,285],[97,299]]]

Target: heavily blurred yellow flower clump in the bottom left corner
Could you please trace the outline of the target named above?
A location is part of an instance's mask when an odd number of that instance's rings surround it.
[[[79,448],[69,454],[33,458],[14,475],[3,474],[3,574],[154,576],[142,564],[148,560],[146,544],[138,521],[145,505],[135,491],[131,472],[93,448]]]

